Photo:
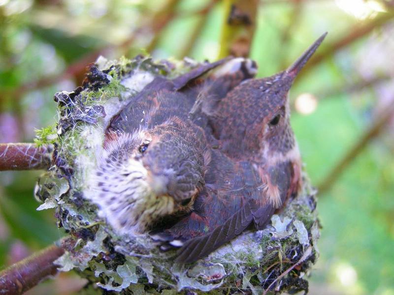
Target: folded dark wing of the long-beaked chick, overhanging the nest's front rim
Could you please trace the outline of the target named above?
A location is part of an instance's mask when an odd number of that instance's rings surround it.
[[[234,201],[241,199],[243,205],[213,231],[187,240],[177,253],[177,262],[191,263],[207,256],[230,242],[235,236],[240,235],[252,224],[257,230],[263,230],[274,212],[293,193],[294,170],[290,161],[278,163],[265,171],[253,169],[253,165],[248,162],[239,163],[236,169],[241,171],[242,178],[234,181],[234,185],[239,186],[239,183],[242,183],[242,188],[240,190],[228,189],[228,193],[232,193],[232,196],[229,196],[226,201],[229,202],[227,206],[231,207],[236,203]],[[279,195],[272,197],[269,195],[272,193],[279,193]],[[223,199],[223,197],[220,198]],[[272,198],[279,198],[279,200]],[[215,202],[218,201],[215,200]],[[212,205],[208,205],[210,206]],[[217,210],[217,208],[209,211],[210,214],[213,212],[221,214],[220,209]]]

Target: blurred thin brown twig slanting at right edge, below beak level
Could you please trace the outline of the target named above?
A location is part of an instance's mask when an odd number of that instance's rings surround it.
[[[376,116],[375,121],[372,123],[371,127],[365,131],[359,141],[348,150],[343,158],[328,173],[328,176],[325,177],[324,180],[318,185],[318,190],[320,193],[324,193],[330,189],[335,180],[337,180],[341,173],[345,171],[347,166],[349,166],[349,164],[361,153],[367,144],[384,130],[384,126],[391,118],[393,118],[393,115],[394,105],[392,104],[382,111],[381,114]]]

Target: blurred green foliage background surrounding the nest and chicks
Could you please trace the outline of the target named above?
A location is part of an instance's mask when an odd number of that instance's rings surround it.
[[[31,142],[34,128],[54,124],[53,94],[78,86],[99,55],[217,59],[223,11],[220,0],[0,0],[0,143]],[[313,295],[394,295],[394,116],[385,113],[394,105],[393,17],[393,0],[259,1],[250,54],[259,77],[328,31],[290,93],[313,184],[359,145],[319,194]],[[39,174],[0,172],[0,269],[63,235],[53,211],[35,210]],[[30,294],[82,285],[62,274]]]

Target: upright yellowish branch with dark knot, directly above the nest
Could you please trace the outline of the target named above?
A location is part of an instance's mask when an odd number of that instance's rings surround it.
[[[219,59],[247,57],[256,29],[258,0],[225,0]]]

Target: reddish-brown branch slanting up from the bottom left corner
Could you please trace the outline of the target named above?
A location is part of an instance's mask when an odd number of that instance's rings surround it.
[[[53,245],[5,268],[0,272],[0,294],[23,294],[43,279],[55,275],[58,270],[53,262],[63,253],[62,248]]]

